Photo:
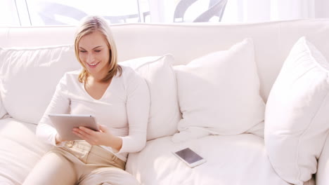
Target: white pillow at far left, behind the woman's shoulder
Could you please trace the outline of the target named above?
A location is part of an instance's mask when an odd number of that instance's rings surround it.
[[[0,94],[10,116],[38,123],[65,71],[79,69],[74,46],[0,48]]]

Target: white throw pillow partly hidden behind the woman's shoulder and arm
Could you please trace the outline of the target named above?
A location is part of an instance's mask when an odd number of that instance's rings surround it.
[[[150,116],[147,139],[155,139],[177,132],[181,119],[177,100],[177,85],[172,55],[140,57],[120,62],[137,71],[147,82],[150,90]]]

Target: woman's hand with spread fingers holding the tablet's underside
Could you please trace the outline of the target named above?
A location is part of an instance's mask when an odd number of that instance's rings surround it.
[[[110,130],[104,125],[98,125],[99,132],[85,127],[73,128],[72,132],[81,139],[86,140],[91,145],[110,146],[112,149],[120,151],[122,139],[112,135]]]

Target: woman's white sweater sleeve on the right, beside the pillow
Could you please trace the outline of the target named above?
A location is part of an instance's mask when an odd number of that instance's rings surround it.
[[[134,72],[134,71],[132,71]],[[134,72],[127,79],[127,117],[129,135],[122,138],[118,153],[138,152],[146,145],[146,131],[150,109],[150,94],[146,81]]]

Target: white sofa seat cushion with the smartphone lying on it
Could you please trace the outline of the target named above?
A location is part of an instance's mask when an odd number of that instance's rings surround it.
[[[188,167],[172,153],[185,147],[207,162]],[[271,167],[264,139],[251,134],[212,135],[179,143],[171,137],[154,139],[140,153],[129,154],[126,170],[145,185],[288,185]]]

